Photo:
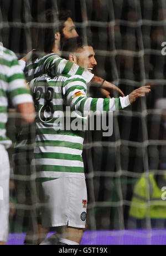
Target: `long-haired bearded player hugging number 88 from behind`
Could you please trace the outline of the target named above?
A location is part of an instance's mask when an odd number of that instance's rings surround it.
[[[56,19],[56,13],[53,11],[47,11],[45,13],[46,22],[48,23],[54,23]],[[91,67],[88,67],[89,70],[86,70],[84,68],[79,67],[75,63],[72,63],[70,61],[66,61],[63,58],[60,57],[60,50],[61,45],[65,42],[66,39],[77,37],[78,34],[76,32],[75,24],[71,19],[71,13],[69,11],[60,12],[58,14],[58,18],[60,21],[60,26],[58,28],[46,28],[45,29],[45,42],[44,42],[44,48],[37,48],[38,52],[45,52],[45,56],[33,56],[33,61],[29,62],[30,56],[32,55],[32,52],[28,53],[27,56],[25,56],[20,63],[22,64],[22,68],[24,69],[25,77],[27,78],[28,82],[30,82],[33,78],[39,77],[40,75],[44,73],[48,73],[51,77],[55,77],[58,74],[64,74],[64,75],[84,75],[84,79],[86,82],[89,79],[90,76],[90,70]],[[40,35],[40,33],[36,33],[36,35],[39,35],[39,43],[42,40],[43,36]],[[35,35],[34,35],[35,36]],[[27,66],[25,67],[25,63],[27,62]],[[98,84],[99,87],[102,87],[100,90],[102,90],[103,94],[106,97],[110,98],[110,90],[118,91],[120,95],[124,96],[123,92],[116,86],[112,85],[112,83],[109,83],[107,81],[104,81],[100,77],[94,76],[94,82]],[[105,88],[108,90],[105,90]],[[15,152],[13,155],[13,161],[14,161],[14,173],[15,174],[22,174],[22,170],[24,169],[24,173],[26,175],[31,175],[33,171],[31,170],[31,160],[32,160],[32,150],[33,150],[33,135],[32,131],[34,131],[34,127],[30,127],[30,131],[27,129],[21,130],[18,134],[18,141],[15,144]],[[24,166],[23,164],[24,163]],[[26,166],[26,167],[25,167]],[[17,203],[18,204],[32,204],[32,193],[31,191],[31,183],[28,181],[16,181],[15,182],[15,188],[17,191]],[[30,188],[29,188],[30,187]],[[34,187],[34,185],[33,185]],[[24,196],[28,191],[28,196]],[[19,209],[21,211],[21,209]],[[20,213],[22,214],[22,213]],[[25,213],[24,213],[25,214]],[[26,215],[26,214],[25,214]],[[27,213],[29,216],[30,214]],[[30,234],[34,232],[33,225],[30,224]],[[38,227],[38,230],[40,228]],[[42,229],[42,228],[41,228]],[[44,230],[42,229],[41,232],[43,233]],[[28,237],[28,235],[27,235]],[[25,238],[25,243],[32,244],[36,243],[33,239],[27,239]]]

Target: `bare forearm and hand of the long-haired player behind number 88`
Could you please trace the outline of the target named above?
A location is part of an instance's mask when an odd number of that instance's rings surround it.
[[[101,92],[104,96],[110,98],[110,93],[113,94],[113,92],[118,92],[118,94],[122,97],[124,97],[124,93],[118,88],[116,85],[113,85],[113,83],[108,82],[106,80],[103,80],[103,78],[94,76],[92,78],[92,82],[95,82],[98,84],[98,86],[101,88]]]

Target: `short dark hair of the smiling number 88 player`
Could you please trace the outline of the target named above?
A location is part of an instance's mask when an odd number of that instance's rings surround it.
[[[75,52],[79,48],[81,49],[84,46],[93,46],[93,45],[88,38],[86,38],[85,40],[82,37],[69,38],[68,40],[66,40],[66,42],[63,45],[62,56],[64,58],[68,58],[69,52]]]

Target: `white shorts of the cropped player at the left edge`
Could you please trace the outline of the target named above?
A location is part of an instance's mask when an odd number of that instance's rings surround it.
[[[0,144],[0,241],[7,242],[9,218],[9,157]]]

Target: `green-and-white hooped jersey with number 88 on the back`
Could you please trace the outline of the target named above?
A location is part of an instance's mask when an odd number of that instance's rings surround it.
[[[115,111],[129,105],[128,96],[119,99],[87,97],[84,76],[43,75],[30,83],[37,109],[35,159],[37,178],[85,178],[82,149],[85,131],[54,129],[56,111]]]

